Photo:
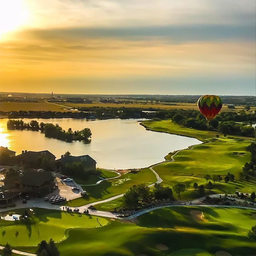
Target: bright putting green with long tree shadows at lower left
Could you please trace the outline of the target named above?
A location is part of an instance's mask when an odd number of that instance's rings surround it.
[[[19,210],[22,212],[23,210]],[[0,222],[0,244],[10,243],[12,246],[37,245],[41,240],[53,238],[55,241],[65,239],[72,228],[95,228],[106,225],[108,220],[85,214],[67,213],[58,210],[34,209],[35,214],[30,221]]]

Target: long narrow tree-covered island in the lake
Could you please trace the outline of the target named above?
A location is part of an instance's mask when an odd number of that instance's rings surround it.
[[[82,140],[86,143],[90,143],[90,138],[92,136],[92,132],[89,128],[84,128],[80,131],[78,130],[74,132],[71,128],[69,128],[67,131],[65,131],[58,124],[43,122],[39,124],[36,120],[31,120],[30,122],[26,123],[23,120],[10,119],[7,121],[7,128],[8,130],[41,131],[47,138],[64,140],[66,142],[71,142],[73,140]]]

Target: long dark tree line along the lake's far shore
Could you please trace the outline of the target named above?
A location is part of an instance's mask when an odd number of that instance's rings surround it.
[[[145,112],[150,111],[150,112]],[[86,119],[106,119],[106,118],[172,118],[175,114],[180,114],[188,118],[203,120],[204,117],[198,110],[159,110],[158,108],[126,108],[126,107],[81,107],[76,112],[55,112],[55,111],[12,111],[2,112],[0,115],[8,118],[86,118]],[[222,111],[215,118],[218,122],[255,122],[255,112],[246,113],[244,110]],[[205,123],[205,122],[204,122]],[[205,126],[204,126],[205,127]],[[196,127],[195,127],[196,128]]]

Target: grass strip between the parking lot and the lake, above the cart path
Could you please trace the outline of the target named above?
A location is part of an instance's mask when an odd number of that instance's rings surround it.
[[[64,202],[62,205],[74,207],[82,206],[125,193],[134,184],[144,183],[149,185],[154,182],[156,182],[156,176],[149,168],[144,168],[136,174],[128,172],[119,178],[103,181],[96,186],[82,186],[82,188],[88,192],[88,196]]]

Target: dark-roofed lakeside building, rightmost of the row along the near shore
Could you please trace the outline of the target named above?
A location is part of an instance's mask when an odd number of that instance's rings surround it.
[[[61,169],[66,164],[72,164],[74,162],[82,162],[86,171],[96,170],[96,161],[89,155],[84,156],[61,156],[60,159],[55,161],[56,168]]]

